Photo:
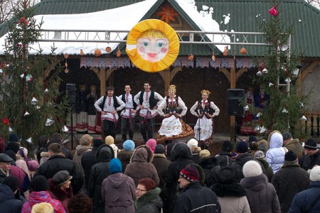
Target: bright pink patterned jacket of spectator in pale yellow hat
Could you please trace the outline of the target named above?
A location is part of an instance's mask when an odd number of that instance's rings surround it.
[[[31,192],[28,198],[28,202],[23,204],[21,213],[31,213],[31,209],[35,204],[47,202],[50,203],[55,209],[56,213],[65,213],[65,209],[63,208],[63,204],[58,200],[54,200],[51,198],[49,192],[41,191],[41,192]]]

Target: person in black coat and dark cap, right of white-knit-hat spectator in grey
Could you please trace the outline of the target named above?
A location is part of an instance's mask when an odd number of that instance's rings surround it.
[[[297,154],[288,151],[284,155],[284,164],[272,178],[271,183],[277,191],[282,213],[289,211],[294,195],[309,186],[309,175],[306,170],[300,168],[297,160]]]

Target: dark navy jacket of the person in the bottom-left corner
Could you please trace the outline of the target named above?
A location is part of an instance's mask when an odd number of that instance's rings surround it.
[[[16,213],[21,212],[22,201],[16,200],[14,192],[7,185],[0,183],[0,209],[1,212]]]

